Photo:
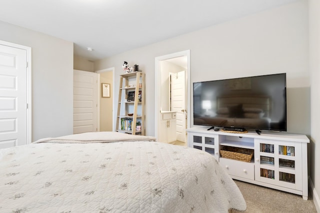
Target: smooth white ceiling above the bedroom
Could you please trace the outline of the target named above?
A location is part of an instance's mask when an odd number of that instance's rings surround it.
[[[72,41],[75,55],[97,60],[293,1],[1,0],[0,20]]]

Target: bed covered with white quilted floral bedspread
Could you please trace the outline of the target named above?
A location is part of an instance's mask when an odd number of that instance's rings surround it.
[[[0,150],[0,213],[245,211],[208,153],[117,132],[46,138]]]

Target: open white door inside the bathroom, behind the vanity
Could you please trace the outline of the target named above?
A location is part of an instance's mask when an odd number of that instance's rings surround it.
[[[185,142],[186,107],[185,107],[185,71],[170,73],[171,76],[171,111],[176,112],[176,140]]]

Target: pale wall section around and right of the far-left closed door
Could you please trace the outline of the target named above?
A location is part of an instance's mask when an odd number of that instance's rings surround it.
[[[0,40],[32,48],[32,141],[72,134],[73,43],[0,21]]]

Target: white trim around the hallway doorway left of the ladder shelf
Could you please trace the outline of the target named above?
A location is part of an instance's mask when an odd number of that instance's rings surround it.
[[[100,82],[100,73],[102,72],[112,72],[112,131],[115,132],[115,121],[116,121],[116,112],[114,109],[114,95],[115,95],[115,91],[114,91],[114,67],[110,67],[110,68],[106,68],[106,69],[100,69],[95,71],[96,73],[98,73],[98,82]],[[99,84],[98,84],[99,86]],[[98,89],[98,131],[100,131],[100,89]]]

